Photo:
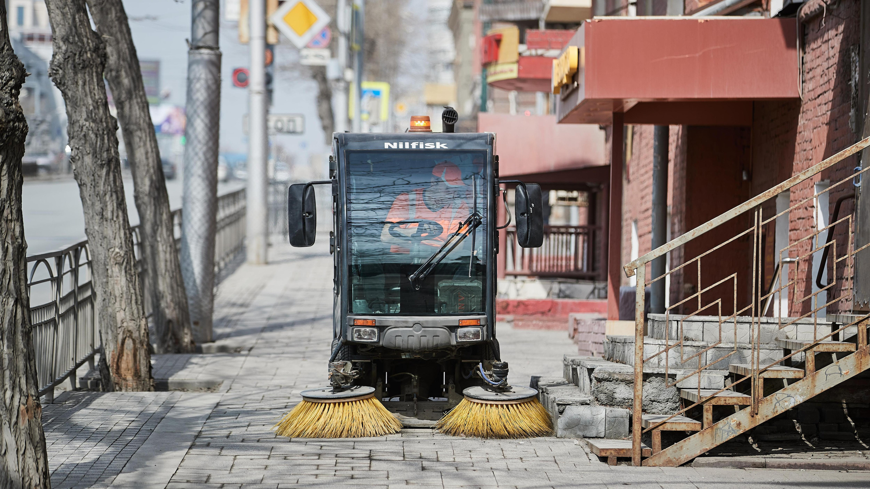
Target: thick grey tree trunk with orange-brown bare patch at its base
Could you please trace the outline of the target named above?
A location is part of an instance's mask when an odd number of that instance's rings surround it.
[[[54,49],[49,76],[66,102],[70,164],[84,208],[103,343],[103,387],[151,391],[148,323],[124,202],[117,121],[109,114],[103,80],[105,46],[90,29],[84,0],[47,0],[45,5]]]

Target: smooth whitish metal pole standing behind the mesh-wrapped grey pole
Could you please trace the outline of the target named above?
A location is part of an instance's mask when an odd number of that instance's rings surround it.
[[[248,188],[247,258],[248,263],[264,265],[269,248],[268,175],[266,172],[269,141],[266,135],[266,3],[250,0],[251,76],[248,83]]]

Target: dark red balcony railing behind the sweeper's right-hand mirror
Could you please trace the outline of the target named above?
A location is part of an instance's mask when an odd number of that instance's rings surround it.
[[[521,248],[507,228],[506,275],[605,280],[599,260],[600,226],[545,226],[540,248]]]

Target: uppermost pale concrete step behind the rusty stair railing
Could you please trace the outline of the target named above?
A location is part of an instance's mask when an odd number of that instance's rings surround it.
[[[648,334],[657,340],[706,341],[707,343],[751,343],[750,331],[761,325],[761,343],[773,343],[776,339],[812,340],[813,334],[831,333],[832,323],[813,318],[753,318],[737,316],[730,320],[719,316],[686,316],[684,314],[649,314]],[[782,327],[787,324],[788,326]],[[781,328],[780,328],[781,327]],[[854,334],[856,327],[848,327],[844,338]],[[813,333],[816,332],[816,333]],[[822,335],[824,335],[822,334]],[[841,333],[843,334],[843,333]]]

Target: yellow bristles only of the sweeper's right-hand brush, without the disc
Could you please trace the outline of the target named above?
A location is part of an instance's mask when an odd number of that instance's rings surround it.
[[[552,435],[550,413],[534,398],[519,404],[484,404],[466,398],[435,427],[440,433],[476,438]]]

